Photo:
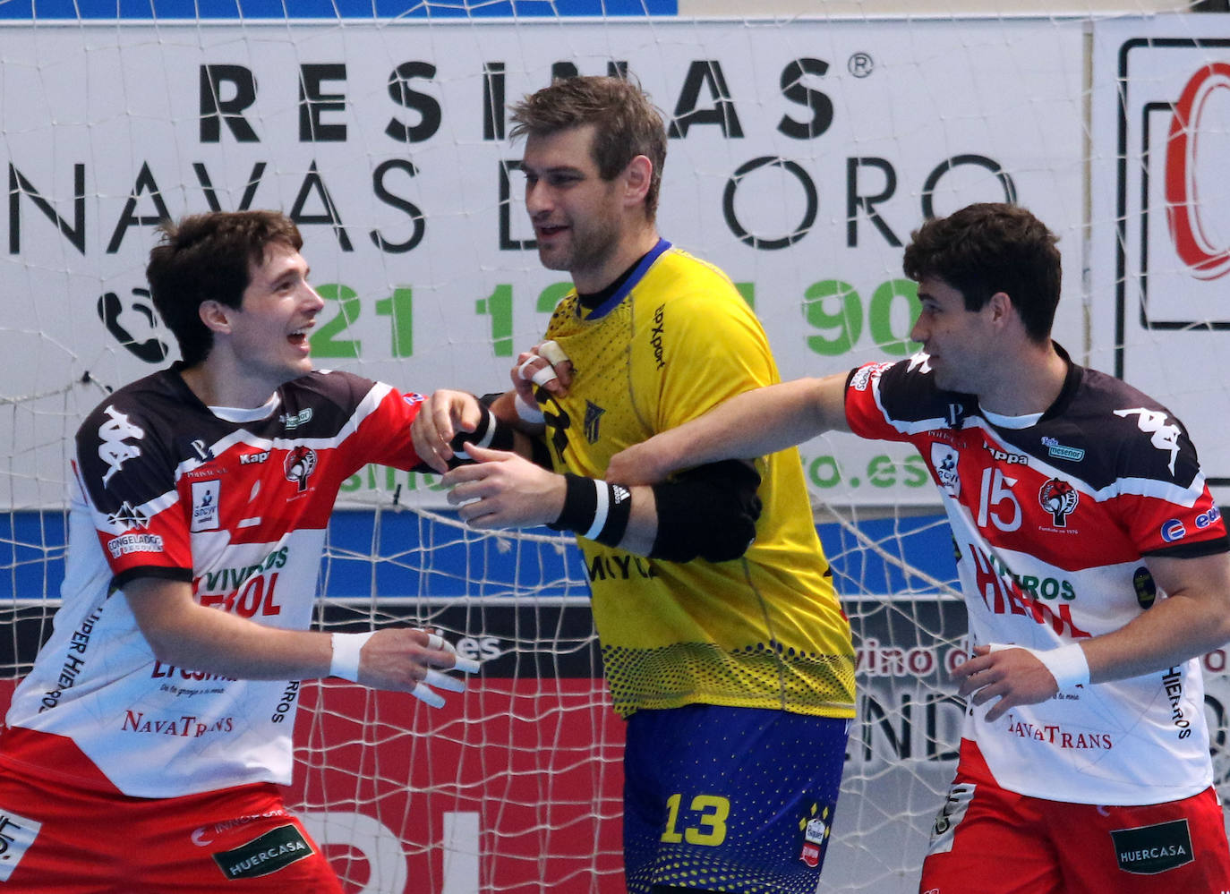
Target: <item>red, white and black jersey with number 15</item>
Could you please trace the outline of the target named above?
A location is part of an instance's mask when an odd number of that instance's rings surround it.
[[[845,411],[856,434],[913,443],[940,487],[970,647],[1053,649],[1118,630],[1165,598],[1144,556],[1230,548],[1182,424],[1070,360],[1041,417],[1000,417],[970,395],[938,390],[926,354],[854,370]],[[991,703],[967,711],[963,735],[1010,791],[1150,804],[1212,783],[1194,659],[1077,686],[986,723]]]

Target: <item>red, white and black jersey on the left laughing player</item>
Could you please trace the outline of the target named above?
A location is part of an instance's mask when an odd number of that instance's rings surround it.
[[[338,488],[369,462],[418,465],[421,401],[317,371],[258,409],[210,409],[175,369],[108,397],[77,432],[63,605],[9,726],[73,739],[124,794],[289,783],[299,682],[162,664],[122,590],[191,582],[202,605],[306,630]],[[52,754],[20,760],[57,772]]]

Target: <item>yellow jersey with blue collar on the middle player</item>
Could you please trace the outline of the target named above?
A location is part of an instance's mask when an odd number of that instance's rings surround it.
[[[716,267],[659,241],[601,306],[576,291],[547,327],[572,360],[544,405],[556,471],[600,478],[619,450],[779,381],[768,338]],[[764,512],[747,553],[665,562],[584,537],[616,711],[692,702],[854,716],[854,649],[793,449],[756,460]]]

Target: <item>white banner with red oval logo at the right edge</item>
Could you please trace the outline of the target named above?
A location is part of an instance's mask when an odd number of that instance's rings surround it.
[[[1090,330],[1100,365],[1187,427],[1230,487],[1230,22],[1093,27]]]

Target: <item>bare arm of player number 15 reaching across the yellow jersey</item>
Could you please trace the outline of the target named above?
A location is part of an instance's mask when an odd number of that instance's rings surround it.
[[[845,381],[846,374],[840,373],[744,391],[691,422],[615,454],[606,477],[653,485],[680,469],[755,459],[824,432],[849,432]]]

